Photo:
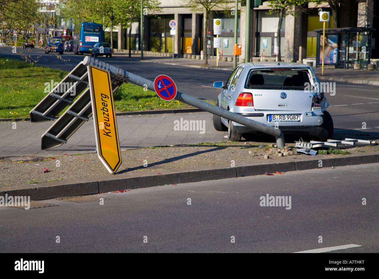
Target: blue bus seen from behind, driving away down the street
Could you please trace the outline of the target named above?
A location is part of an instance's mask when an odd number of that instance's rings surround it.
[[[96,22],[82,22],[75,26],[73,35],[74,54],[91,53],[94,44],[104,41],[103,25]]]

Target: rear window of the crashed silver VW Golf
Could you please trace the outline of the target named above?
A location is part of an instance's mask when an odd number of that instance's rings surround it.
[[[245,88],[304,90],[309,83],[307,69],[262,69],[251,70]]]

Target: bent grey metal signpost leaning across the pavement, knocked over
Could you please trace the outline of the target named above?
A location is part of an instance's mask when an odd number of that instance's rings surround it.
[[[98,67],[100,69],[104,69],[106,71],[109,71],[111,73],[111,76],[113,78],[116,78],[118,80],[121,80],[123,82],[130,82],[132,84],[139,85],[141,87],[146,87],[151,91],[155,91],[154,89],[154,82],[148,79],[144,79],[143,77],[137,76],[135,74],[129,73],[125,71],[124,69],[109,65],[108,63],[104,63],[102,61],[99,61],[95,58],[86,56],[83,60],[83,65],[88,66],[92,65],[95,67]],[[257,122],[255,120],[243,117],[242,115],[239,115],[234,112],[230,112],[229,110],[222,109],[221,107],[214,106],[212,104],[209,104],[207,102],[201,101],[197,98],[194,98],[192,96],[186,95],[181,92],[176,93],[176,100],[180,102],[184,102],[186,104],[189,104],[194,107],[198,107],[199,109],[202,109],[206,112],[213,113],[215,115],[219,115],[223,118],[229,119],[231,121],[234,121],[236,123],[242,124],[244,126],[250,127],[254,130],[264,132],[266,134],[275,136],[276,143],[279,148],[285,147],[284,137],[283,133],[279,129],[275,129],[272,126]]]

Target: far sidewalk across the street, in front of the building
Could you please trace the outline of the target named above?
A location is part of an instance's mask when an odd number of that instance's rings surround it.
[[[128,57],[125,52],[114,52],[116,56]],[[232,71],[233,62],[219,61],[218,67],[216,66],[216,58],[208,57],[208,64],[204,65],[204,60],[190,59],[190,58],[174,58],[172,57],[157,56],[144,54],[144,58],[141,60],[141,54],[132,54],[131,60],[160,63],[166,65],[185,66],[191,68],[204,68],[204,69],[217,69],[222,71]],[[237,62],[237,65],[240,64]],[[257,63],[256,63],[257,64]],[[334,68],[334,66],[324,67],[324,75],[321,75],[321,67],[314,68],[316,75],[321,81],[332,82],[348,82],[352,84],[367,84],[367,85],[379,85],[379,71],[377,70],[353,70],[353,69],[340,69]]]

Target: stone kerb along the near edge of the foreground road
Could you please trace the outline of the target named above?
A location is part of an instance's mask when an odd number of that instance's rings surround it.
[[[290,161],[273,164],[260,164],[236,167],[203,167],[186,172],[164,172],[160,175],[151,173],[124,173],[117,177],[98,177],[88,180],[75,180],[72,182],[41,183],[36,187],[29,186],[3,186],[0,196],[5,194],[13,196],[30,196],[31,200],[54,199],[74,195],[90,195],[103,192],[112,192],[124,189],[137,189],[156,187],[165,184],[180,184],[216,180],[222,178],[246,177],[296,170],[320,169],[319,158],[306,161]],[[322,159],[322,167],[338,167],[379,162],[379,154],[368,154],[340,158]],[[9,189],[7,189],[9,188]]]

